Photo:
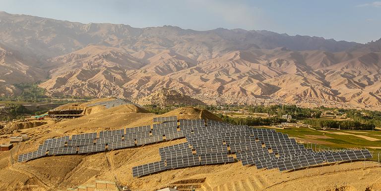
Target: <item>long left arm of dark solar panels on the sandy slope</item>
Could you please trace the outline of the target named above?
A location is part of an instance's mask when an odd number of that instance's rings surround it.
[[[150,126],[136,127],[134,129],[138,130],[137,133],[134,132],[130,134],[123,134],[125,132],[125,130],[123,129],[113,131],[102,131],[100,132],[100,138],[96,138],[97,133],[88,133],[73,135],[71,140],[69,139],[69,136],[65,136],[58,139],[48,139],[43,144],[39,145],[37,151],[19,155],[18,161],[24,162],[31,159],[39,158],[41,156],[45,156],[47,151],[49,151],[48,155],[75,154],[77,153],[77,146],[79,146],[78,153],[99,152],[106,150],[106,144],[108,144],[109,150],[119,149],[135,146],[135,140],[136,145],[139,146],[149,143],[162,142],[164,141],[163,135],[165,135],[166,140],[171,140],[184,138],[187,134],[190,133],[187,130],[177,131],[176,127],[173,128],[171,126],[166,125],[162,127],[155,127],[154,130],[156,131],[151,130],[151,132],[152,134],[156,134],[156,136],[150,136],[149,132],[143,132],[144,130],[148,130],[148,128],[150,129]]]

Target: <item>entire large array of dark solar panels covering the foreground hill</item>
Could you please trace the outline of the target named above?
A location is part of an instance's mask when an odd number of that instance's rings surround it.
[[[372,158],[367,149],[316,152],[272,129],[254,129],[212,120],[207,120],[205,125],[205,121],[200,119],[181,119],[178,126],[176,120],[176,117],[155,118],[157,122],[164,122],[153,124],[152,128],[141,126],[99,134],[72,135],[71,139],[69,136],[48,139],[36,151],[20,154],[18,162],[49,155],[101,152],[178,138],[186,138],[187,142],[159,148],[161,160],[133,167],[133,176],[235,161],[241,161],[244,166],[254,165],[258,169],[288,171],[326,162]],[[237,160],[232,156],[234,154]]]

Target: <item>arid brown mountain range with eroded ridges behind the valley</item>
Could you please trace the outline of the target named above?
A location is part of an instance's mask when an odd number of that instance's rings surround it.
[[[42,81],[48,95],[148,96],[205,103],[381,105],[381,40],[269,31],[82,24],[0,12],[0,94]]]

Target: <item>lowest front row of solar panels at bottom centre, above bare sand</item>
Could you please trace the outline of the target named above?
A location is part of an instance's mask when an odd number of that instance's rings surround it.
[[[234,162],[234,158],[229,156],[228,153],[193,154],[182,157],[167,158],[158,162],[132,167],[132,176],[140,177],[167,169],[230,162]]]

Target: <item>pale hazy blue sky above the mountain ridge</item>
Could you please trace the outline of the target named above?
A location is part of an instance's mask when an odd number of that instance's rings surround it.
[[[381,1],[374,0],[0,0],[0,10],[139,28],[242,28],[359,43],[381,38]]]

